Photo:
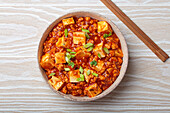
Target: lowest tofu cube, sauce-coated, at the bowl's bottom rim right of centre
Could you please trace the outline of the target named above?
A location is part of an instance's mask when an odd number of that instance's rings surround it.
[[[97,83],[94,83],[94,84],[90,85],[85,90],[87,91],[87,95],[89,97],[95,97],[96,95],[98,95],[98,94],[100,94],[102,92],[102,90],[99,88]]]

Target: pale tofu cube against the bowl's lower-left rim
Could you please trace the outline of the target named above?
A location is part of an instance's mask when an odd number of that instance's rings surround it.
[[[54,88],[54,89],[56,89],[56,90],[60,90],[60,88],[63,86],[63,82],[59,79],[59,78],[57,78],[57,77],[55,77],[55,76],[52,76],[52,78],[48,81],[49,82],[49,84],[51,84],[51,86]]]

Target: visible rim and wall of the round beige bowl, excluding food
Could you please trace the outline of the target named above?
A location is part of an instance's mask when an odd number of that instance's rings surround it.
[[[81,12],[72,12],[72,13],[68,13],[66,15],[63,15],[62,17],[56,19],[51,25],[49,25],[49,27],[44,32],[44,34],[43,34],[43,36],[42,36],[42,38],[40,40],[39,47],[38,47],[38,65],[39,65],[39,69],[40,69],[40,71],[42,73],[42,76],[43,76],[43,78],[45,78],[47,83],[48,83],[47,75],[46,75],[45,71],[42,69],[42,67],[40,66],[40,59],[41,59],[41,56],[42,56],[42,53],[43,53],[43,43],[46,40],[49,32],[53,29],[53,27],[55,25],[57,25],[62,19],[65,19],[65,18],[68,18],[68,17],[72,17],[72,16],[76,16],[76,17],[82,17],[82,16],[85,17],[85,16],[88,16],[88,17],[92,17],[94,19],[107,21],[111,25],[113,31],[116,33],[118,38],[120,39],[121,48],[122,48],[123,55],[124,55],[123,56],[122,67],[121,67],[121,70],[120,70],[120,74],[117,77],[117,79],[115,80],[115,82],[108,89],[106,89],[101,94],[99,94],[99,95],[97,95],[95,97],[92,97],[92,98],[90,98],[90,97],[78,97],[78,96],[73,96],[71,94],[64,94],[64,93],[62,93],[60,91],[56,91],[52,86],[49,85],[55,93],[61,95],[64,98],[67,98],[69,100],[73,100],[73,101],[93,101],[93,100],[102,98],[102,97],[106,96],[107,94],[109,94],[122,81],[122,79],[123,79],[123,77],[125,75],[127,66],[128,66],[128,48],[127,48],[127,44],[126,44],[125,38],[123,37],[123,35],[120,32],[120,30],[117,28],[117,26],[112,21],[110,21],[106,17],[104,17],[102,15],[99,15],[99,14],[96,14],[96,13],[82,12],[82,11]]]

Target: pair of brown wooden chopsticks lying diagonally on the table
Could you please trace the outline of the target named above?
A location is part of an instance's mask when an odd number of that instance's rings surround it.
[[[123,11],[111,0],[101,0],[143,43],[148,46],[163,62],[169,56],[156,45]]]

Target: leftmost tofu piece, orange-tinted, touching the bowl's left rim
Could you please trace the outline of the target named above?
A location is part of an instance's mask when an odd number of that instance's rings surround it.
[[[48,68],[53,68],[54,67],[54,61],[51,59],[51,56],[49,53],[46,53],[45,55],[42,56],[41,61],[40,61],[40,65],[44,68],[44,69],[48,69]]]

